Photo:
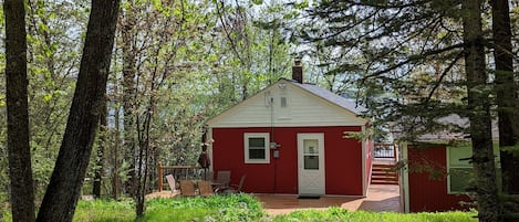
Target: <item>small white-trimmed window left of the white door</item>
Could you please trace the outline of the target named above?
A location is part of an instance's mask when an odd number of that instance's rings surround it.
[[[246,133],[245,163],[270,163],[269,133]]]

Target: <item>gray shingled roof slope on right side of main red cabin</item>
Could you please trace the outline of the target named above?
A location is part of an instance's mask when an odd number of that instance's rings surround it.
[[[329,89],[325,89],[325,88],[322,88],[320,86],[316,86],[314,84],[308,84],[308,83],[304,83],[304,84],[301,84],[301,83],[298,83],[298,82],[293,82],[293,81],[288,81],[290,83],[292,83],[293,85],[302,88],[302,89],[305,89],[310,93],[312,93],[313,95],[316,95],[325,101],[329,101],[342,108],[345,108],[356,115],[361,115],[363,114],[363,112],[366,112],[367,109],[361,105],[357,105],[354,101],[352,99],[349,99],[349,98],[345,98],[345,97],[342,97],[340,95],[336,95],[332,92],[330,92]]]

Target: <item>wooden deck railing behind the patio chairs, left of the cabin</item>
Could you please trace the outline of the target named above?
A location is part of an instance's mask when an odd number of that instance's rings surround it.
[[[199,166],[163,166],[158,163],[158,191],[163,191],[165,175],[173,175],[176,180],[196,180],[201,177]]]

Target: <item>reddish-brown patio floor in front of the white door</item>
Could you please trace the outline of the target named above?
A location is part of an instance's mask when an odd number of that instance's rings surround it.
[[[339,207],[350,211],[394,211],[402,212],[398,186],[371,184],[366,198],[322,197],[320,199],[298,199],[297,195],[255,194],[270,215],[286,214],[297,210],[325,210]]]

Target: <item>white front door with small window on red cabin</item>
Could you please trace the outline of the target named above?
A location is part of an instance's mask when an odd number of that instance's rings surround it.
[[[299,194],[324,194],[324,135],[298,134]]]

